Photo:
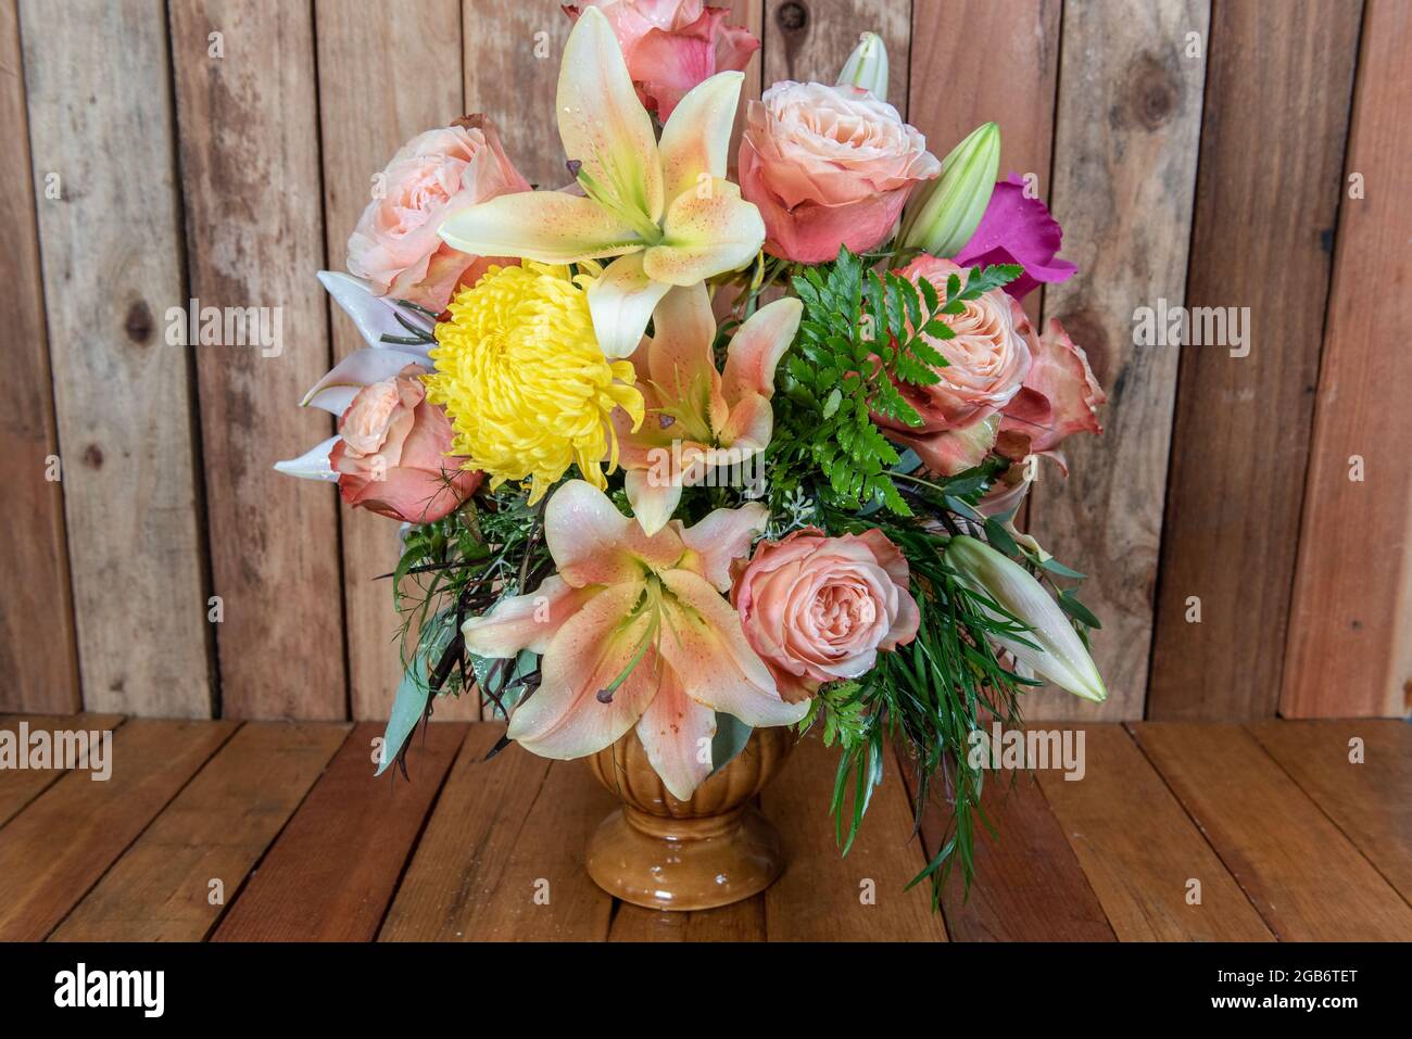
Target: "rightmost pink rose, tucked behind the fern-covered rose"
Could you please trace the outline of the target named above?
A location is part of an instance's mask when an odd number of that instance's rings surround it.
[[[1028,438],[1029,452],[1036,455],[1055,453],[1070,433],[1101,433],[1099,407],[1108,397],[1094,378],[1087,354],[1058,319],[1049,320],[1032,350],[1034,364],[1019,392],[1005,405],[1001,431]],[[1055,457],[1063,466],[1063,456]]]

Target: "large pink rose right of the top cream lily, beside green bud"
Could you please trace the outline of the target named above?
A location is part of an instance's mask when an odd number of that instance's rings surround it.
[[[775,83],[746,109],[740,191],[765,220],[765,251],[786,260],[873,248],[940,171],[926,138],[858,86]]]

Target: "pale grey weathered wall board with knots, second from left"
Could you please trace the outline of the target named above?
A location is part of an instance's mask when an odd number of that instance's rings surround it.
[[[83,702],[209,717],[164,10],[21,0],[20,25],[35,188],[62,185],[37,206]]]

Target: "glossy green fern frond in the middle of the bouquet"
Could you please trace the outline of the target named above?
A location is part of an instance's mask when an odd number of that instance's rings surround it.
[[[945,296],[925,278],[914,285],[891,271],[866,267],[847,248],[832,264],[806,267],[794,278],[803,318],[781,366],[775,397],[771,484],[779,494],[822,476],[825,504],[863,508],[881,504],[897,515],[912,510],[891,472],[901,455],[874,415],[907,426],[922,424],[905,387],[935,384],[946,359],[932,340],[955,333],[942,315],[1018,277],[1018,265],[955,274]]]

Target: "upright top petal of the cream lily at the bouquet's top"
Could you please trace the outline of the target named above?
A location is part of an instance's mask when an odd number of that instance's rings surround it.
[[[613,25],[597,8],[585,8],[569,32],[558,109],[563,154],[583,164],[589,193],[592,184],[610,196],[607,205],[661,220],[662,164],[652,119],[633,88]]]

